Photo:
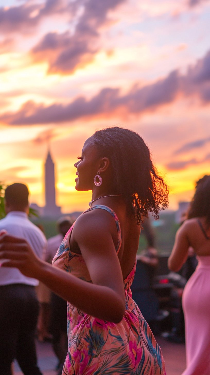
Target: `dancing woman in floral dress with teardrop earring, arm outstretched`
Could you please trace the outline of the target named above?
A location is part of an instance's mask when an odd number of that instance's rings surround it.
[[[167,189],[141,136],[97,131],[75,163],[76,189],[92,190],[89,210],[69,229],[53,267],[26,241],[3,235],[3,266],[17,267],[68,301],[63,375],[165,375],[150,327],[132,300],[140,223],[167,206]]]

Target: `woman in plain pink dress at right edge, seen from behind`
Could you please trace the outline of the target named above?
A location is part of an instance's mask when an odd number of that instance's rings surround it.
[[[177,272],[192,246],[198,266],[188,280],[182,298],[185,320],[187,368],[182,375],[210,374],[210,176],[197,182],[188,219],[178,229],[168,260]]]

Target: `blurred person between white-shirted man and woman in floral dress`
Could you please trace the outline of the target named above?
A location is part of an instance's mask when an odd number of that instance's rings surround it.
[[[52,263],[55,254],[58,251],[66,233],[72,226],[70,216],[60,217],[57,221],[57,236],[48,239],[45,260]],[[44,284],[43,284],[44,285]],[[45,286],[46,287],[46,286]],[[46,287],[47,288],[47,287]],[[58,375],[62,374],[63,365],[68,352],[67,319],[66,319],[66,300],[55,293],[51,293],[51,323],[53,350],[58,357]]]

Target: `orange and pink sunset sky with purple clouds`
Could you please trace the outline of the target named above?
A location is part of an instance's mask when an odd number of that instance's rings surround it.
[[[88,207],[74,163],[96,129],[138,132],[169,208],[210,174],[210,1],[1,0],[0,181],[44,205],[48,145],[57,204]]]

